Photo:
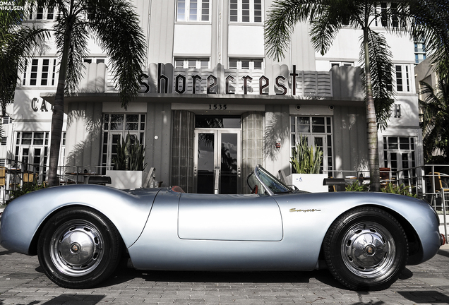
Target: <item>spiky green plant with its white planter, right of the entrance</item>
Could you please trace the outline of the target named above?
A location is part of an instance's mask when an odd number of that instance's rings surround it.
[[[293,174],[287,177],[287,183],[301,191],[328,191],[328,186],[323,186],[323,179],[328,175],[320,174],[322,161],[323,151],[316,145],[309,145],[307,138],[301,136],[296,147],[292,149],[290,164]]]

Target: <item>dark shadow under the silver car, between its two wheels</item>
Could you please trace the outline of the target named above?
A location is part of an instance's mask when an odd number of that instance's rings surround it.
[[[328,270],[299,271],[254,271],[254,272],[212,272],[212,271],[148,271],[120,268],[114,276],[100,287],[121,284],[133,279],[149,282],[218,282],[218,283],[309,283],[316,279],[326,285],[345,289]]]

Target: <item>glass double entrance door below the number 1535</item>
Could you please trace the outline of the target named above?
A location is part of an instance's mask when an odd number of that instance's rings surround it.
[[[196,193],[239,193],[240,131],[195,130]]]

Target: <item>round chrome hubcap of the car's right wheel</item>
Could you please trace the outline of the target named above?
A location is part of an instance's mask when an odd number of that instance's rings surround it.
[[[364,222],[351,227],[342,240],[342,259],[347,268],[361,277],[384,275],[395,260],[393,236],[375,222]]]

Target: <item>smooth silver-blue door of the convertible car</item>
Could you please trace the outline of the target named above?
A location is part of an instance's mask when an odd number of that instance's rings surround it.
[[[183,194],[178,235],[196,240],[280,241],[282,217],[269,196]]]

